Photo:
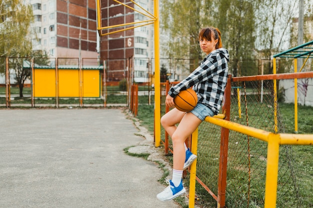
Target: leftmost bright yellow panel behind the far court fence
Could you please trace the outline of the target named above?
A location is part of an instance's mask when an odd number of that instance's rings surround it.
[[[34,97],[55,97],[55,70],[35,69],[33,85]]]

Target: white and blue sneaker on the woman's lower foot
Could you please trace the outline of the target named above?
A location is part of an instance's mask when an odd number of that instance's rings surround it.
[[[156,195],[156,198],[160,201],[165,202],[165,201],[175,199],[176,197],[183,195],[186,192],[185,188],[182,186],[182,180],[178,187],[175,187],[174,184],[171,182],[171,180],[166,180],[166,183],[169,186],[166,187],[164,191]]]

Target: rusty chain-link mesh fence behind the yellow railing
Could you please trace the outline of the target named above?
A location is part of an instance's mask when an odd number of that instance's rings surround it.
[[[264,61],[265,62],[265,61]],[[242,81],[243,80],[243,81]],[[177,82],[170,82],[169,87]],[[279,84],[279,82],[278,82]],[[162,94],[166,94],[166,84],[161,85]],[[273,133],[285,133],[284,119],[279,111],[278,91],[277,126],[274,122],[273,80],[251,80],[231,82],[230,121]],[[161,104],[165,97],[161,97]],[[166,112],[164,106],[161,115]],[[220,112],[222,113],[222,112]],[[287,118],[289,119],[289,118]],[[277,129],[277,132],[275,132]],[[196,194],[201,207],[216,207],[218,174],[220,160],[219,126],[202,122],[198,128]],[[161,140],[165,145],[166,133],[162,130]],[[187,143],[190,141],[187,140]],[[279,170],[277,183],[276,208],[306,208],[312,206],[311,199],[303,192],[299,183],[300,166],[295,160],[294,146],[279,147]],[[171,140],[168,140],[168,152],[172,152]],[[166,153],[166,146],[165,146]],[[229,132],[226,201],[227,208],[264,207],[265,177],[267,165],[267,143],[247,135]],[[302,158],[303,159],[303,158]],[[187,175],[188,177],[188,175]],[[306,201],[303,203],[303,201]]]

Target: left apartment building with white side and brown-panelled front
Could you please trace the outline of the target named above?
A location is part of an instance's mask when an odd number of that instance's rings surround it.
[[[96,62],[95,0],[25,0],[25,3],[33,8],[34,50],[45,50],[51,58],[81,57]]]

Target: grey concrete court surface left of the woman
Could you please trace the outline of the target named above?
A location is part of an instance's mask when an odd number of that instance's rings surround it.
[[[120,109],[0,110],[0,208],[180,208]],[[152,142],[151,142],[152,143]]]

